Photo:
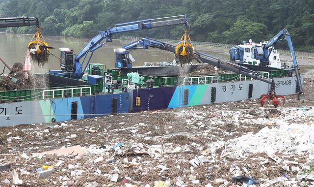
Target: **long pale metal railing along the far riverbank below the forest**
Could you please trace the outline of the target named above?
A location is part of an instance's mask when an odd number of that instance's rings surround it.
[[[141,37],[136,36],[118,36],[116,39],[122,40],[139,40]],[[152,38],[155,39],[155,38]],[[161,41],[164,43],[169,44],[178,44],[180,40],[173,40],[173,39],[155,39],[157,41]],[[237,46],[237,44],[226,44],[226,43],[212,43],[212,42],[202,42],[202,41],[193,41],[193,45],[200,50],[207,50],[212,52],[225,52],[229,53],[230,48]],[[288,55],[290,56],[291,53],[289,50],[283,49],[276,49],[281,55]],[[311,58],[314,59],[314,53],[302,52],[302,51],[295,51],[295,56],[302,57],[302,58]]]

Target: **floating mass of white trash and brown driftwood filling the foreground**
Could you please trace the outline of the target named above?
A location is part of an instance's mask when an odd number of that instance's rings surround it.
[[[231,102],[1,127],[0,183],[314,185],[314,109],[232,110],[235,103],[247,107],[245,102]]]

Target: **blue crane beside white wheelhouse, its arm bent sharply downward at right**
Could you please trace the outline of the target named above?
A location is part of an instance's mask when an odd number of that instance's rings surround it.
[[[285,36],[285,38],[283,38]],[[297,92],[298,92],[298,99],[300,97],[300,94],[303,93],[303,87],[301,84],[301,78],[300,78],[300,73],[298,69],[298,63],[295,58],[295,52],[293,49],[293,43],[291,36],[288,32],[288,30],[285,28],[281,31],[279,31],[274,37],[272,37],[266,44],[263,44],[262,46],[253,46],[253,51],[252,51],[252,57],[256,60],[260,60],[260,65],[261,66],[267,66],[269,64],[269,56],[273,50],[273,47],[277,42],[282,41],[282,40],[287,40],[292,62],[293,62],[293,68],[295,71],[295,76],[297,80]],[[269,49],[270,48],[270,49]],[[244,49],[241,47],[233,47],[230,49],[230,60],[235,61],[239,60],[241,63],[243,63],[243,52]]]

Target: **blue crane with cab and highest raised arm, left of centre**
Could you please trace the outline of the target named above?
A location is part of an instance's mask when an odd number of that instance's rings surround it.
[[[157,27],[166,27],[172,25],[184,24],[185,28],[188,27],[187,15],[163,17],[156,19],[146,19],[139,21],[132,21],[122,24],[115,24],[114,27],[107,28],[105,31],[100,31],[99,34],[94,36],[84,47],[78,52],[78,55],[73,58],[73,51],[68,48],[60,48],[61,52],[61,69],[64,72],[70,74],[72,78],[81,78],[87,68],[94,51],[101,48],[105,43],[112,41],[112,34],[125,32],[125,31],[136,31],[136,30],[147,30]],[[101,43],[105,40],[104,43]],[[87,55],[91,53],[87,62]],[[82,62],[79,62],[82,59]],[[85,65],[84,65],[85,64]]]

